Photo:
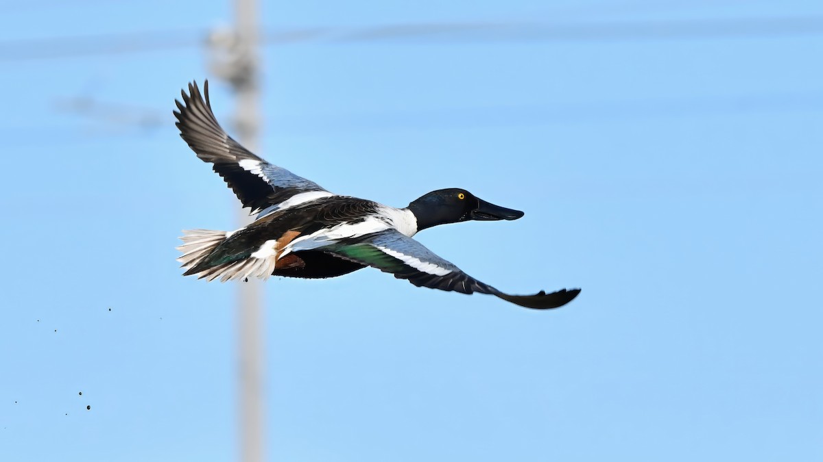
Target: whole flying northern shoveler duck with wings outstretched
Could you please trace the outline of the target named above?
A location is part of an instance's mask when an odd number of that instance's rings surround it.
[[[469,219],[518,219],[519,210],[495,206],[464,189],[430,192],[397,209],[338,196],[317,183],[269,164],[233,140],[217,123],[208,81],[181,91],[174,111],[180,136],[213,164],[257,219],[235,231],[185,230],[178,258],[184,275],[207,280],[267,279],[269,275],[328,278],[373,266],[416,286],[490,293],[529,308],[569,303],[580,289],[509,295],[483,284],[412,239],[421,229]]]

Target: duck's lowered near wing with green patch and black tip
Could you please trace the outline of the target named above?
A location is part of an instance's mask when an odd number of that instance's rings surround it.
[[[365,238],[322,247],[323,252],[346,260],[374,266],[392,273],[398,279],[431,289],[454,290],[460,293],[490,293],[521,307],[547,309],[562,307],[580,293],[580,289],[543,291],[534,295],[509,295],[464,273],[453,263],[440,258],[412,238],[388,229]]]

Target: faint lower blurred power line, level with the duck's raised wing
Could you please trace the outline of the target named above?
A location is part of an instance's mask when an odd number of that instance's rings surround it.
[[[0,127],[7,146],[40,146],[50,140],[60,143],[88,142],[96,136],[146,136],[170,129],[165,110],[130,104],[114,104],[92,98],[59,99],[59,109],[79,113],[100,122],[98,126]],[[690,96],[679,98],[624,99],[574,104],[485,105],[402,111],[346,112],[275,116],[270,132],[328,133],[337,131],[387,131],[394,129],[442,129],[473,127],[522,127],[546,124],[575,124],[690,118],[711,115],[794,113],[823,111],[823,93],[782,92],[749,95]],[[123,113],[127,112],[127,113]],[[130,128],[129,128],[130,127]],[[35,136],[62,133],[57,138]],[[70,139],[67,140],[67,137]],[[11,144],[9,144],[11,143]]]

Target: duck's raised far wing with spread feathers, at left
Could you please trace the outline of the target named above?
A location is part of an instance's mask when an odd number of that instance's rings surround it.
[[[243,206],[251,208],[251,213],[333,196],[316,182],[253,155],[228,136],[212,113],[208,81],[203,85],[205,99],[197,82],[188,84],[188,95],[185,90],[180,93],[183,102],[174,100],[179,109],[174,111],[174,117],[180,136],[200,159],[214,164],[214,171],[226,180]]]

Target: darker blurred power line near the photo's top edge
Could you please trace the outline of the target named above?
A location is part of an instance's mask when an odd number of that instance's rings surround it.
[[[486,42],[603,42],[675,39],[769,39],[823,33],[823,16],[590,23],[463,22],[416,23],[360,28],[269,29],[261,44],[472,44]],[[128,34],[51,37],[0,42],[0,62],[81,58],[193,48],[207,43],[209,30],[155,30]]]

